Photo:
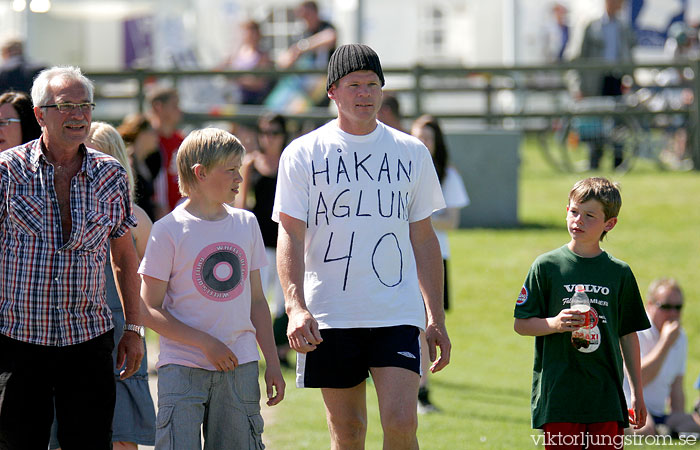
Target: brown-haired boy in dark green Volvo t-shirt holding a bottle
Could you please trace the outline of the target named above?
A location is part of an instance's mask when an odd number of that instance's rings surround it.
[[[607,179],[577,182],[566,207],[571,241],[535,260],[515,305],[515,331],[536,336],[532,426],[544,430],[548,449],[621,448],[624,427],[646,421],[636,331],[649,328],[649,320],[629,266],[600,248],[621,205]],[[590,344],[576,348],[571,332],[586,314],[569,303],[579,284],[591,303]],[[629,420],[623,361],[632,390]]]

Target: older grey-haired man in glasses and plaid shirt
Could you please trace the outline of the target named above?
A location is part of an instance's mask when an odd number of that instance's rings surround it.
[[[62,448],[111,449],[108,242],[131,331],[121,377],[143,357],[127,175],[83,144],[95,105],[80,69],[42,71],[32,102],[41,137],[0,154],[0,449],[46,449],[54,405]]]

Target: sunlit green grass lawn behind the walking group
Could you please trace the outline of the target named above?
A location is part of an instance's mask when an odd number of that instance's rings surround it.
[[[419,417],[421,448],[536,448],[531,438],[536,432],[530,428],[534,338],[513,331],[513,307],[534,258],[568,241],[567,194],[583,175],[554,172],[530,144],[526,139],[522,147],[522,226],[450,235],[452,363],[431,377],[434,402],[443,412]],[[700,268],[700,174],[659,172],[643,164],[625,175],[602,173],[621,183],[623,199],[618,225],[603,247],[630,264],[643,297],[659,276],[676,277],[685,290],[683,323],[690,342],[685,389],[691,408],[698,397],[692,385],[700,373],[700,284],[695,278]],[[286,399],[265,413],[268,448],[329,448],[320,391],[294,387],[292,372],[286,380]],[[367,398],[367,448],[378,449],[382,433],[371,384]]]

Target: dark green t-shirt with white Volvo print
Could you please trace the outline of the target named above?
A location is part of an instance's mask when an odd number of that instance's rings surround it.
[[[591,301],[591,341],[571,333],[535,338],[532,426],[617,421],[628,426],[619,338],[650,327],[630,267],[606,252],[582,258],[565,245],[539,256],[515,304],[515,317],[554,317],[569,308],[577,284]]]

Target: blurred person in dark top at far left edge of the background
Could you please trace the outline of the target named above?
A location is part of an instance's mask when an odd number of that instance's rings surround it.
[[[45,67],[25,58],[24,44],[19,39],[11,38],[5,41],[0,52],[0,92],[15,90],[29,94],[34,78]]]

